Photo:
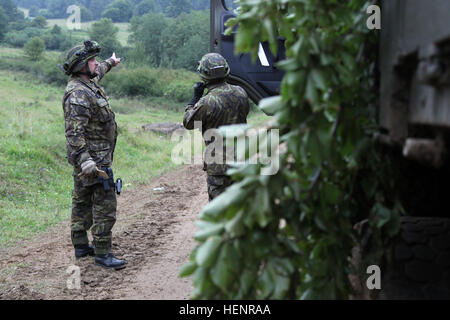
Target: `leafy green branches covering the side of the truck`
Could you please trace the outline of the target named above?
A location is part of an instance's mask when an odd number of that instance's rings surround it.
[[[200,244],[181,274],[193,274],[193,298],[348,298],[361,211],[380,239],[395,234],[400,213],[384,181],[390,168],[370,143],[370,61],[356,58],[375,37],[361,23],[367,2],[237,3],[228,32],[239,25],[239,52],[256,58],[268,41],[276,53],[285,39],[281,97],[260,108],[274,114],[286,150],[272,176],[262,165],[229,171],[235,183],[202,210]]]

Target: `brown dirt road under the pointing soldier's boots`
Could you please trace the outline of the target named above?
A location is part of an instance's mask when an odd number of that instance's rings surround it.
[[[124,191],[113,253],[127,260],[125,269],[102,269],[92,257],[76,260],[67,222],[0,251],[0,299],[188,299],[192,280],[178,273],[196,245],[194,222],[207,201],[205,174],[194,165]],[[80,270],[79,289],[67,286],[73,266]]]

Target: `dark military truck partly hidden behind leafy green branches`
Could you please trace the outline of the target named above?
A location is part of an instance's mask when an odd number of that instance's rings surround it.
[[[233,1],[211,0],[212,52],[231,67],[230,81],[251,99],[279,94],[283,59],[260,44],[258,59],[234,55],[224,23]],[[388,259],[380,262],[382,286],[372,297],[450,298],[450,1],[379,1],[381,30],[374,143],[396,168],[396,188],[406,215]],[[280,39],[282,49],[282,39]],[[363,248],[364,253],[364,248]]]

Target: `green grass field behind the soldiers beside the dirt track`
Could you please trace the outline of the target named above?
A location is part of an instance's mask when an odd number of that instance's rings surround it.
[[[19,54],[0,49],[2,54]],[[30,74],[0,71],[0,247],[68,221],[72,167],[65,159],[63,87],[43,84]],[[176,167],[175,142],[145,132],[151,122],[181,122],[183,112],[152,98],[111,99],[119,125],[114,170],[130,190]],[[261,112],[250,123],[267,120]]]

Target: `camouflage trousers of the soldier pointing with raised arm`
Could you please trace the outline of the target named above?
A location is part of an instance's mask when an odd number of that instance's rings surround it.
[[[95,254],[111,251],[111,230],[116,222],[117,199],[114,189],[105,191],[103,184],[83,186],[74,177],[72,191],[71,238],[73,245],[88,244],[91,229]]]

